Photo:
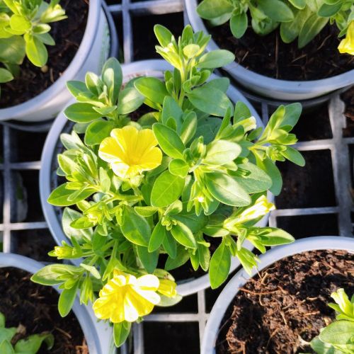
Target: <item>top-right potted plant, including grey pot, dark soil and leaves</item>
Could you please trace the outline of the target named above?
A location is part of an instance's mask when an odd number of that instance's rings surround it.
[[[206,30],[207,20],[208,50],[236,54],[224,69],[251,91],[298,101],[354,83],[352,1],[190,0],[185,6],[195,30]],[[337,36],[344,35],[340,43]]]

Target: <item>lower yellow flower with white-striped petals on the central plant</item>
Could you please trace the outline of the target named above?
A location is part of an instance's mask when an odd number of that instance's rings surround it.
[[[161,298],[159,278],[147,274],[139,278],[115,270],[113,278],[102,288],[93,304],[98,319],[110,319],[113,323],[134,322],[152,312]]]

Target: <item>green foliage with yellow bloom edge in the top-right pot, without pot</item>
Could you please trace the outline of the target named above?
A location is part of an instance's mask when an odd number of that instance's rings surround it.
[[[353,0],[203,0],[198,14],[211,25],[222,25],[229,21],[230,30],[236,38],[241,38],[249,25],[258,35],[280,27],[280,37],[285,43],[297,38],[302,48],[321,32],[327,23],[336,23],[339,37],[345,35],[354,23]],[[351,50],[340,46],[341,52],[353,55]]]

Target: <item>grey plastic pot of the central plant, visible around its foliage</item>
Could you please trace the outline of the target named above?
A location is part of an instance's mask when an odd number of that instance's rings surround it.
[[[124,75],[124,82],[137,76],[156,76],[161,79],[164,77],[163,73],[165,70],[171,69],[171,66],[167,64],[164,60],[154,59],[154,60],[144,60],[141,62],[133,62],[131,64],[122,65],[122,72]],[[215,77],[215,76],[214,76]],[[251,103],[246,100],[246,98],[233,86],[229,87],[227,91],[229,98],[236,102],[242,101],[249,106],[252,115],[257,120],[257,125],[259,127],[264,127],[261,118],[259,118],[256,110],[251,106]],[[72,123],[68,122],[64,113],[60,113],[52,125],[47,139],[45,141],[45,146],[42,152],[42,167],[40,169],[40,200],[42,203],[42,210],[47,220],[47,224],[52,232],[52,235],[58,245],[62,244],[62,241],[67,241],[67,236],[65,236],[62,230],[62,209],[54,207],[47,202],[47,198],[54,188],[57,187],[57,174],[56,174],[56,156],[62,152],[62,145],[59,141],[59,136],[62,132],[69,132],[71,130]],[[273,195],[268,194],[268,200],[273,202]],[[264,217],[258,222],[258,225],[265,227],[268,224],[268,217]],[[246,244],[247,249],[253,249],[251,243]],[[80,259],[72,260],[72,263],[79,265],[81,263]],[[235,270],[239,266],[238,258],[232,258],[230,272]],[[194,294],[202,289],[210,287],[209,275],[205,274],[198,278],[190,278],[186,280],[181,280],[177,282],[178,284],[178,294],[182,296]]]

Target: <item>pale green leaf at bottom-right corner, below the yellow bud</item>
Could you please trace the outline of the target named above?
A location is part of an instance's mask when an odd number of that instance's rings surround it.
[[[354,321],[334,321],[319,334],[319,339],[331,344],[353,344]]]

